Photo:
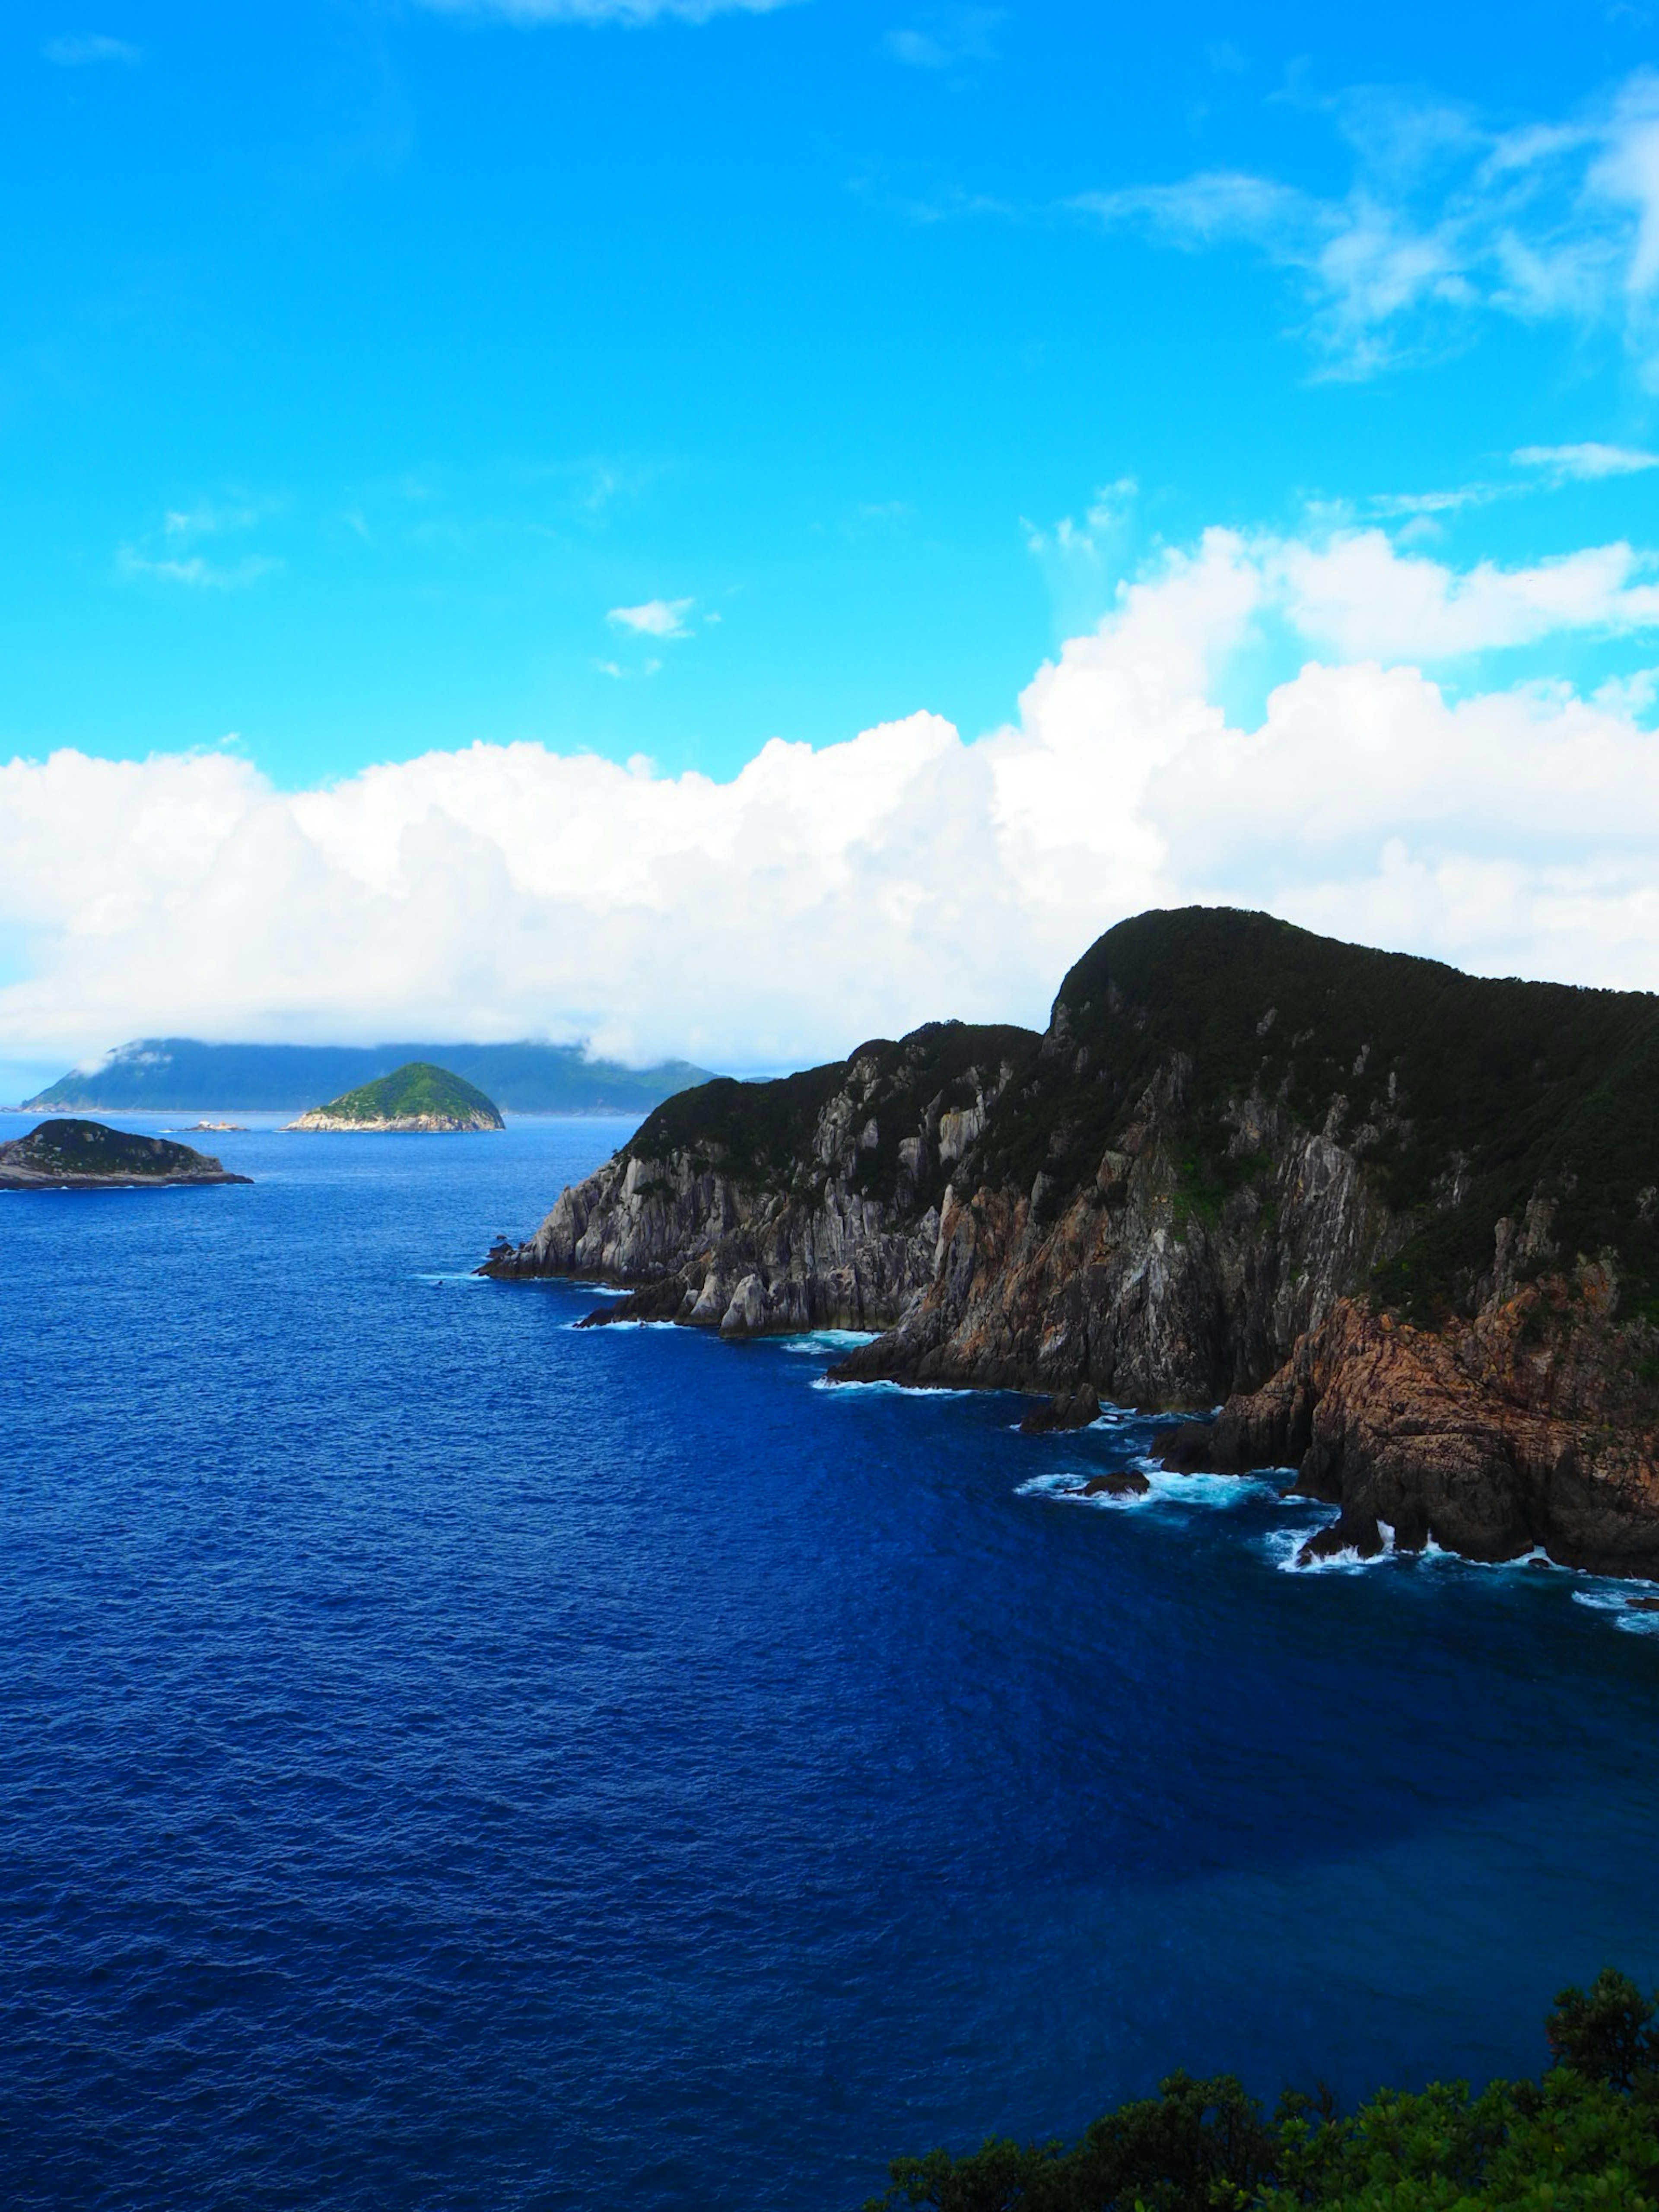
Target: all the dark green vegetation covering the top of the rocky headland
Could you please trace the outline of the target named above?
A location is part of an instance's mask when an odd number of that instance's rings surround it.
[[[684,1091],[626,1150],[799,1192],[823,1179],[814,1128],[849,1086],[874,1124],[856,1188],[916,1214],[951,1175],[938,1148],[902,1172],[929,1108],[993,1099],[958,1190],[1031,1194],[1042,1221],[1095,1192],[1161,1086],[1177,1234],[1214,1230],[1250,1188],[1265,1234],[1274,1164],[1239,1117],[1256,1099],[1352,1155],[1405,1225],[1345,1290],[1429,1323],[1467,1310],[1509,1219],[1517,1281],[1613,1256],[1619,1314],[1659,1321],[1659,998],[1644,991],[1462,975],[1228,907],[1155,911],[1084,953],[1044,1037],[931,1022],[779,1082]]]

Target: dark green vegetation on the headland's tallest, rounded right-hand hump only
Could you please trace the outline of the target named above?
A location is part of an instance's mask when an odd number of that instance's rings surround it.
[[[1371,1283],[1433,1318],[1493,1265],[1493,1223],[1548,1208],[1524,1263],[1617,1254],[1621,1312],[1659,1298],[1659,998],[1493,982],[1267,914],[1183,907],[1108,929],[1055,998],[1042,1048],[975,1155],[1057,1208],[1175,1060],[1188,1079],[1177,1212],[1250,1179],[1254,1093],[1354,1152],[1411,1237]]]

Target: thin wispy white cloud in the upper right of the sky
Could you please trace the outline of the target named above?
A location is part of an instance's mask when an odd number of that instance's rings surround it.
[[[1086,192],[1104,223],[1290,270],[1332,374],[1453,343],[1473,312],[1619,327],[1659,380],[1659,73],[1568,122],[1498,131],[1444,104],[1325,104],[1354,161],[1321,197],[1245,170]]]

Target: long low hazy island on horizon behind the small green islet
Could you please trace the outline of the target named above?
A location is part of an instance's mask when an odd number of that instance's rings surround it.
[[[453,1068],[507,1113],[648,1115],[708,1068],[664,1060],[626,1068],[588,1060],[577,1044],[204,1044],[135,1037],[95,1068],[71,1068],[24,1113],[301,1113],[420,1060]]]

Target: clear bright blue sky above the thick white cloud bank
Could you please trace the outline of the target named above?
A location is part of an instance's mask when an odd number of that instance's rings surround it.
[[[1250,239],[1079,201],[1214,170],[1336,201],[1363,104],[1374,137],[1562,124],[1657,46],[1628,4],[24,0],[0,741],[239,732],[296,781],[476,737],[730,774],[920,706],[989,728],[1157,540],[1652,434],[1617,314],[1413,310],[1367,367]],[[1418,161],[1422,215],[1469,150]],[[1509,495],[1442,544],[1531,560],[1652,507]],[[655,599],[688,635],[606,619]]]

